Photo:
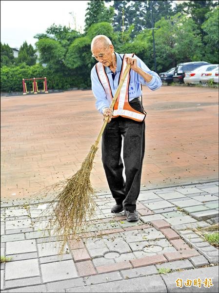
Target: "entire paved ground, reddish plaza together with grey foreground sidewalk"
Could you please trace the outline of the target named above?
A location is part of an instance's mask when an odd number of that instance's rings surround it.
[[[76,241],[46,224],[41,188],[73,175],[102,126],[90,90],[1,97],[1,292],[218,292],[218,90],[143,87],[146,151],[138,222],[115,204],[99,148],[96,212]],[[43,212],[43,214],[42,214]],[[208,232],[206,232],[208,233]]]

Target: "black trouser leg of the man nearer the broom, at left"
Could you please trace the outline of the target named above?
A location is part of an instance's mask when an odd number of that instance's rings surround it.
[[[119,205],[125,199],[123,164],[120,157],[121,142],[119,120],[115,118],[106,125],[102,134],[102,163],[113,198]]]

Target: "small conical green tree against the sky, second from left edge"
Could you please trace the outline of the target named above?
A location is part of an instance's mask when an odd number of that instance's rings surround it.
[[[34,65],[37,61],[37,55],[34,47],[31,44],[27,44],[27,42],[23,42],[20,46],[20,50],[18,53],[18,58],[16,59],[16,64],[19,65],[21,63],[26,63],[27,65]]]

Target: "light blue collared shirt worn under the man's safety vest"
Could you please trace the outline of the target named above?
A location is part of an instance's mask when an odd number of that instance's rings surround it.
[[[105,67],[105,72],[107,74],[107,77],[109,79],[110,87],[112,90],[113,96],[116,93],[117,87],[119,85],[119,75],[121,71],[121,65],[122,65],[122,57],[124,54],[118,54],[116,53],[116,58],[117,58],[117,69],[116,69],[116,75],[113,80],[112,77],[112,71],[110,70],[109,67]],[[146,73],[149,73],[153,76],[152,80],[150,83],[146,83],[146,81],[141,77],[138,73],[136,73],[134,70],[130,70],[130,84],[129,84],[129,101],[132,101],[133,99],[140,97],[142,92],[141,92],[141,84],[147,85],[151,90],[156,90],[158,89],[162,82],[159,78],[159,75],[151,71],[145,63],[143,63],[142,60],[139,59],[136,55],[134,55],[134,58],[137,59],[137,65]],[[91,84],[92,84],[92,91],[93,94],[97,100],[96,102],[96,107],[98,111],[102,114],[104,108],[109,108],[109,102],[106,98],[106,93],[103,89],[102,84],[100,84],[100,80],[97,75],[97,71],[95,66],[91,70]]]

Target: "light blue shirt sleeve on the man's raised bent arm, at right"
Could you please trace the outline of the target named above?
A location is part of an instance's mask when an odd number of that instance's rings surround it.
[[[147,85],[151,90],[156,90],[158,89],[161,85],[162,82],[160,80],[159,75],[155,72],[150,70],[147,65],[136,55],[134,55],[134,58],[137,59],[137,65],[146,73],[152,75],[152,80],[150,81],[150,83],[147,83],[142,76],[140,76],[139,74],[137,74],[137,79],[138,82],[140,84],[145,84]]]

